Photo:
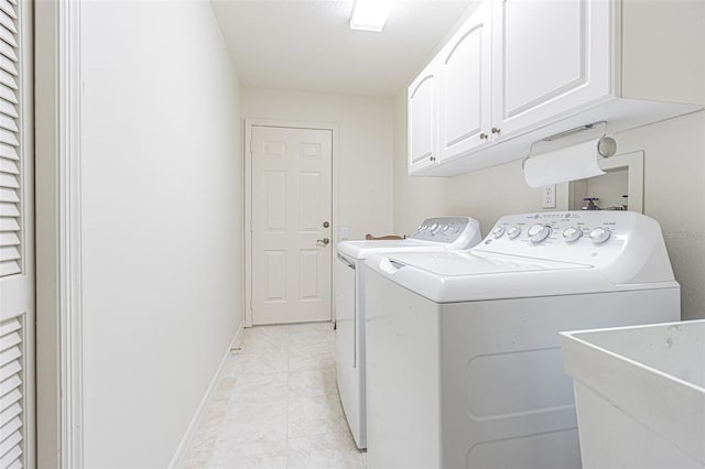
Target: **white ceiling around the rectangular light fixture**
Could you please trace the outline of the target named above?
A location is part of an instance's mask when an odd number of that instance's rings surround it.
[[[470,0],[397,0],[381,33],[349,28],[354,0],[212,0],[245,87],[395,97]]]

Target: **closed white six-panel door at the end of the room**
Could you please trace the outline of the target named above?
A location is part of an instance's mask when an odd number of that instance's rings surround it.
[[[330,130],[253,126],[252,324],[330,320]]]

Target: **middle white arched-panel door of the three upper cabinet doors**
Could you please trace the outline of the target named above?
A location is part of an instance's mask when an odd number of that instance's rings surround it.
[[[438,55],[438,159],[489,142],[491,4],[485,2]]]

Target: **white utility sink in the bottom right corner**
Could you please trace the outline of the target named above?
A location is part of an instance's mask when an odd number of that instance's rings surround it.
[[[705,468],[705,320],[561,334],[584,468]]]

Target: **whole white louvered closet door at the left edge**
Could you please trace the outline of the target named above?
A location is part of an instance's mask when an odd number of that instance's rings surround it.
[[[34,466],[31,3],[0,0],[0,468]]]

